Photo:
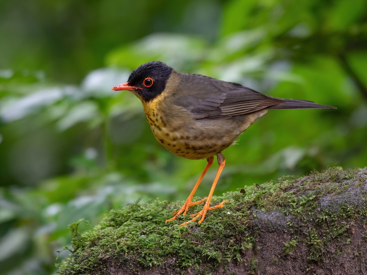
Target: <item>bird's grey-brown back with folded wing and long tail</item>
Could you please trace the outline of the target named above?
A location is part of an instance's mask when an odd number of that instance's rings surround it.
[[[262,109],[334,108],[306,100],[274,98],[237,83],[198,74],[179,75],[184,85],[175,91],[171,104],[189,110],[195,119],[225,120]],[[190,86],[192,90],[187,89]]]

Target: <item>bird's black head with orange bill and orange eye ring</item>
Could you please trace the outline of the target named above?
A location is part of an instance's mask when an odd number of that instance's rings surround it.
[[[131,91],[143,101],[150,101],[160,95],[173,68],[160,61],[151,61],[140,65],[132,72],[126,83],[117,85],[114,91]]]

